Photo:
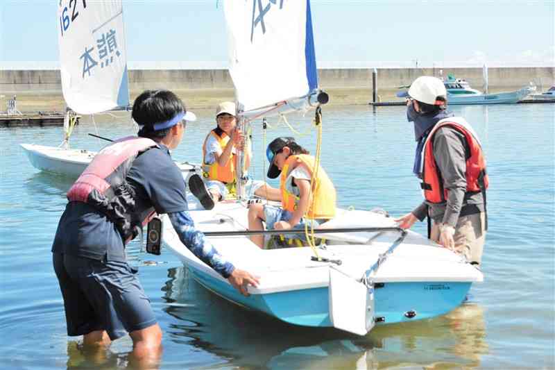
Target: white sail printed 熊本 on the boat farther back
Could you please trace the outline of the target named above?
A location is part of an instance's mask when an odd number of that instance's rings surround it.
[[[129,105],[121,0],[59,0],[58,44],[69,108],[85,115]]]

